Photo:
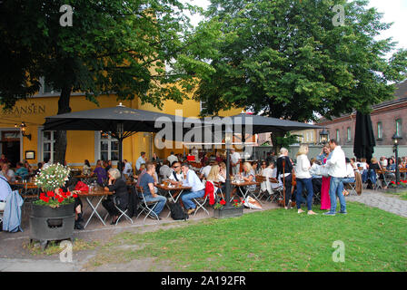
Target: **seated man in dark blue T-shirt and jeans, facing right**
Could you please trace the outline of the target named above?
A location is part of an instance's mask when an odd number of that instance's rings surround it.
[[[154,213],[159,217],[161,211],[163,210],[165,206],[165,202],[167,201],[167,198],[164,198],[163,196],[157,195],[155,193],[154,189],[154,172],[155,172],[155,166],[151,162],[147,162],[145,165],[145,174],[141,177],[140,180],[140,187],[143,189],[143,194],[146,202],[155,202],[158,201],[158,204],[154,208]],[[154,216],[150,216],[150,218],[155,218]]]

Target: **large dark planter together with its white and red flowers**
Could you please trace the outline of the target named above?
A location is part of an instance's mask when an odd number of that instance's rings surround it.
[[[43,249],[50,240],[73,238],[77,196],[62,189],[69,173],[69,168],[57,163],[40,169],[35,176],[35,185],[42,192],[32,204],[30,240],[39,240]]]

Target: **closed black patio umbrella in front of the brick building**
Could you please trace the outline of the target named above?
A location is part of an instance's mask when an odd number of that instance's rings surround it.
[[[372,128],[370,114],[356,112],[356,128],[354,131],[353,153],[356,158],[366,158],[368,162],[372,159],[376,141]]]

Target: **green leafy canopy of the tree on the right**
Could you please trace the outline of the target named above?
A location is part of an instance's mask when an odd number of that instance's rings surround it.
[[[370,111],[393,97],[391,82],[405,78],[407,52],[394,53],[391,39],[375,40],[391,24],[366,4],[212,0],[201,25],[220,31],[212,50],[191,51],[210,64],[194,97],[206,102],[207,114],[245,107],[293,121]],[[344,25],[333,24],[334,5],[344,7]]]

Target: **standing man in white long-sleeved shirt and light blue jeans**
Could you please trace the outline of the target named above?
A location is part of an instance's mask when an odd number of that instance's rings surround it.
[[[336,196],[341,203],[341,214],[347,214],[346,201],[343,197],[343,182],[342,179],[346,176],[346,157],[341,146],[337,141],[332,139],[329,141],[329,147],[332,150],[332,156],[330,160],[326,161],[326,167],[328,168],[328,174],[331,177],[329,197],[331,198],[331,210],[325,212],[325,216],[334,216],[336,214]]]

